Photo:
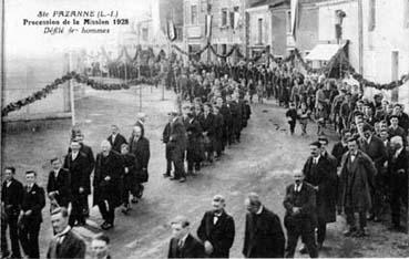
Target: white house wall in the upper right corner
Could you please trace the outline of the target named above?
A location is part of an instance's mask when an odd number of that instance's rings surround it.
[[[364,75],[379,83],[392,81],[392,51],[399,51],[400,77],[409,73],[409,28],[405,27],[407,0],[377,0],[375,30],[368,30],[369,0],[364,0]],[[391,13],[393,13],[391,15]],[[377,91],[368,90],[368,94]],[[384,92],[388,99],[391,91]],[[409,111],[409,83],[399,87],[399,102]]]

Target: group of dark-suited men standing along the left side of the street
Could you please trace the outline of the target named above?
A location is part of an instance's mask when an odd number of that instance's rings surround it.
[[[53,157],[50,160],[52,170],[49,173],[45,190],[37,184],[37,172],[25,173],[27,185],[23,186],[14,178],[16,168],[6,167],[1,189],[2,257],[21,258],[20,245],[27,257],[40,257],[39,232],[45,197],[50,199],[51,221],[55,235],[53,241],[60,240],[61,235],[65,237],[72,227],[86,224],[91,184],[93,206],[99,207],[104,220],[101,225],[103,230],[114,227],[115,208],[119,206],[123,205],[122,211],[127,215],[131,209],[130,200],[137,203],[143,195],[143,183],[149,179],[150,142],[144,137],[143,123],[144,114],[140,114],[129,141],[119,133],[116,125],[112,125],[112,134],[102,141],[101,152],[96,157],[92,148],[83,143],[81,131],[74,127],[68,155],[64,159]],[[55,224],[67,220],[67,226],[54,226],[54,214],[59,218]],[[11,253],[6,238],[7,228]],[[53,256],[49,258],[78,258],[80,255],[70,252],[74,251],[54,249]]]

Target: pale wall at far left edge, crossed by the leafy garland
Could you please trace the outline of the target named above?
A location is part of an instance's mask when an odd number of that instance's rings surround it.
[[[8,55],[6,54],[6,85],[3,85],[3,106],[10,102],[27,97],[62,77],[68,69],[68,58],[64,53],[49,53],[49,55]],[[11,112],[7,120],[32,120],[44,116],[58,116],[70,113],[70,91],[68,83],[48,95],[47,99],[37,101]],[[69,114],[67,114],[68,116]]]

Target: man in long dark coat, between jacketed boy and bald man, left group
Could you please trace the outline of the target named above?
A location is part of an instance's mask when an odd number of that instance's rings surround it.
[[[89,160],[84,153],[80,152],[81,145],[76,141],[71,142],[71,152],[65,156],[64,166],[71,175],[71,195],[72,209],[70,215],[70,226],[73,227],[75,221],[78,225],[85,225],[85,216],[83,214],[84,204],[81,203],[83,196],[86,196],[89,179]]]

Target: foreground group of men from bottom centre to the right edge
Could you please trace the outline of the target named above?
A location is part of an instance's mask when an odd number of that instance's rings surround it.
[[[348,136],[346,133],[345,136]],[[376,137],[372,135],[372,137]],[[342,138],[327,151],[328,139],[320,137],[309,145],[310,156],[301,170],[294,174],[294,183],[286,187],[284,236],[279,216],[262,205],[257,194],[246,198],[248,210],[245,220],[243,256],[246,258],[293,258],[298,239],[303,241],[301,253],[317,258],[326,239],[327,224],[336,221],[336,211],[344,211],[347,218],[346,237],[365,237],[367,216],[375,209],[372,191],[376,190],[378,174],[386,174],[396,189],[391,200],[391,229],[402,230],[400,225],[400,201],[407,206],[409,156],[400,136],[390,139],[387,172],[378,173],[376,162],[368,155],[366,144],[356,136]],[[382,143],[381,143],[382,144]],[[342,148],[344,152],[339,152]],[[339,174],[337,174],[337,167]],[[173,237],[168,258],[228,258],[235,238],[234,218],[225,211],[225,198],[216,195],[213,209],[204,214],[193,237],[191,222],[184,216],[172,222]],[[337,206],[338,205],[338,206]],[[358,214],[356,224],[355,214]]]

